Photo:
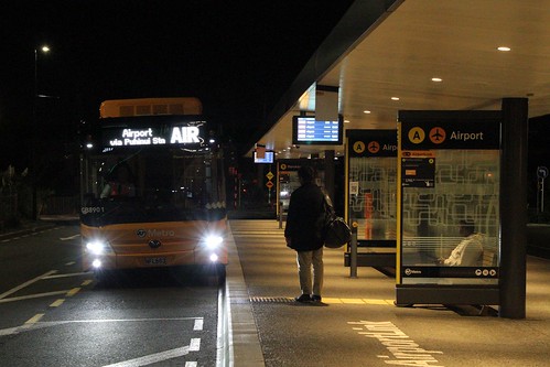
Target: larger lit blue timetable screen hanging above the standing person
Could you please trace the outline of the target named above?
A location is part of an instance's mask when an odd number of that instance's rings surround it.
[[[292,118],[292,143],[341,145],[342,122],[342,118],[335,121],[316,121],[312,116],[294,116]]]

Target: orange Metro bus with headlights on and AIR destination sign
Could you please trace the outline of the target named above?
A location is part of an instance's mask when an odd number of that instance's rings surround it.
[[[83,268],[197,266],[225,279],[223,149],[197,98],[106,100],[80,156]]]

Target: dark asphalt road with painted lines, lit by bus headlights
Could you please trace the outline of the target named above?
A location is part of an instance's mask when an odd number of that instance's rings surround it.
[[[80,269],[78,227],[0,242],[2,366],[215,366],[218,288],[186,272]]]

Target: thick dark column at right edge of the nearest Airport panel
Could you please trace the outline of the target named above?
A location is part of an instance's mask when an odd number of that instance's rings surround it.
[[[503,99],[499,315],[526,317],[528,99]]]

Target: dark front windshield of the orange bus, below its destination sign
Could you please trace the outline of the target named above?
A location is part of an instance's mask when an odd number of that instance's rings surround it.
[[[88,163],[91,191],[85,208],[100,208],[86,213],[95,214],[89,225],[225,216],[220,160],[209,151],[140,149],[100,154]]]

